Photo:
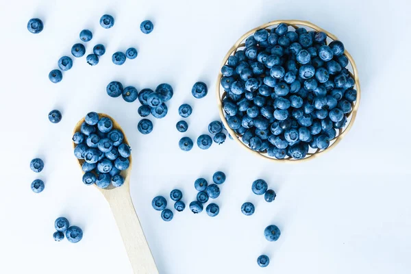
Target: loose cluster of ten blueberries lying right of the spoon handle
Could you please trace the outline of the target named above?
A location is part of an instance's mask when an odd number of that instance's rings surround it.
[[[222,171],[217,171],[212,176],[214,184],[208,184],[207,180],[204,178],[199,178],[195,180],[194,187],[198,191],[197,200],[190,203],[190,210],[192,213],[197,214],[203,211],[203,204],[208,202],[209,198],[216,199],[220,196],[219,184],[225,182],[225,173]],[[175,201],[174,208],[178,212],[182,212],[186,208],[186,204],[182,201],[182,191],[175,189],[171,191],[170,198]],[[171,221],[173,219],[173,212],[166,208],[167,201],[162,196],[154,197],[151,201],[151,206],[158,211],[162,211],[161,217],[164,221]],[[217,216],[220,212],[220,208],[216,203],[209,203],[206,207],[206,212],[208,216]]]

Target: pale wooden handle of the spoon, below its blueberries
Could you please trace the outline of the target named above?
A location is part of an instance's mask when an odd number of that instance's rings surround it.
[[[124,188],[124,186],[123,186]],[[120,189],[120,188],[118,188]],[[114,192],[116,190],[108,190]],[[111,193],[110,193],[111,194]],[[135,274],[157,274],[153,256],[142,232],[129,192],[106,196]]]

